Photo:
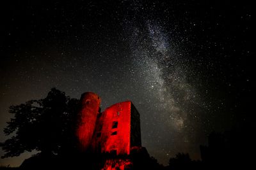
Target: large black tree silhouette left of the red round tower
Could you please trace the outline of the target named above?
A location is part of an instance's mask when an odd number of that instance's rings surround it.
[[[19,156],[23,152],[39,151],[51,157],[61,155],[75,147],[76,113],[79,101],[70,99],[55,88],[47,97],[10,106],[14,115],[4,128],[6,139],[0,146],[4,157]]]

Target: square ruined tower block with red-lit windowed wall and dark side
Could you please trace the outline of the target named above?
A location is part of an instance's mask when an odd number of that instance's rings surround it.
[[[131,101],[113,104],[98,115],[94,152],[129,155],[134,147],[141,147],[140,114]]]

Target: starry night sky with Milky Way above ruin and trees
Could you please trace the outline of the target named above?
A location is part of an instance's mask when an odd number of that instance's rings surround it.
[[[9,1],[1,4],[0,141],[8,106],[52,87],[101,108],[131,100],[141,139],[168,164],[200,159],[212,131],[250,119],[252,3],[242,1]],[[0,150],[0,155],[3,155]],[[29,154],[1,159],[19,166]]]

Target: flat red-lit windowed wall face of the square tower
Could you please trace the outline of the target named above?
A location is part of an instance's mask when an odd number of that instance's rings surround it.
[[[104,112],[102,126],[102,152],[117,155],[130,153],[131,102],[117,103]]]

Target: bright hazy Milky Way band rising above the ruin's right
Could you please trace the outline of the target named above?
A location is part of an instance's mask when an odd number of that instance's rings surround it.
[[[202,120],[199,119],[202,108],[196,108],[203,105],[204,99],[193,86],[195,81],[188,81],[187,77],[196,73],[186,64],[188,56],[183,54],[186,52],[175,48],[170,35],[164,34],[163,26],[155,23],[147,20],[142,29],[132,26],[132,75],[141,81],[143,91],[147,94],[144,102],[150,105],[151,118],[148,119],[154,123],[146,123],[146,128],[150,129],[147,138],[156,140],[148,143],[152,145],[159,143],[159,140],[165,141],[164,145],[159,145],[158,150],[166,154],[163,159],[167,160],[175,152],[186,152],[188,143],[195,141],[196,133],[202,128]],[[178,146],[180,143],[182,147],[175,148],[175,151],[170,149],[170,146]],[[152,152],[154,154],[156,150]]]

